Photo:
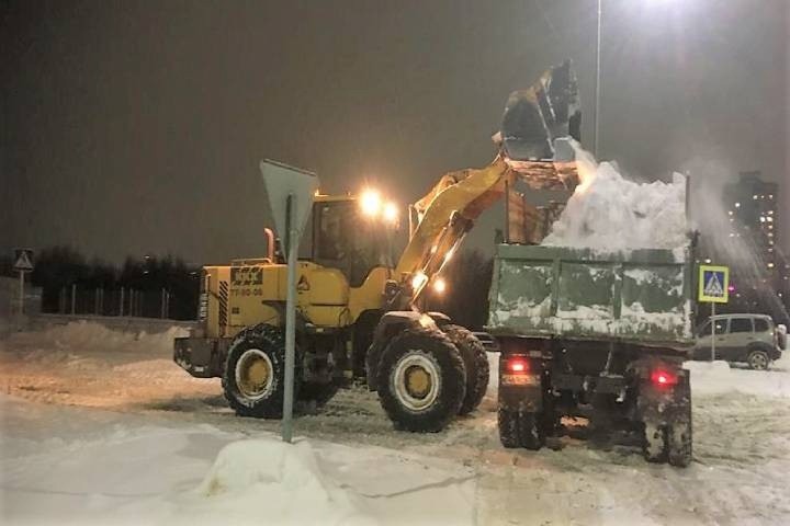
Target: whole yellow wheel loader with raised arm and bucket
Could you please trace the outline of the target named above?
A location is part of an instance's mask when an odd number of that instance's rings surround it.
[[[488,382],[483,345],[447,316],[425,312],[421,295],[440,279],[474,220],[504,195],[509,238],[534,238],[539,214],[517,187],[573,188],[579,125],[569,61],[514,92],[494,137],[494,161],[445,174],[409,206],[409,241],[397,262],[391,235],[399,214],[392,204],[372,191],[315,195],[309,258],[298,262],[296,400],[320,405],[359,377],[398,430],[437,432],[473,411]],[[192,376],[222,378],[237,414],[276,419],[286,265],[274,232],[264,231],[264,258],[203,268],[201,329],[176,340],[174,361]]]

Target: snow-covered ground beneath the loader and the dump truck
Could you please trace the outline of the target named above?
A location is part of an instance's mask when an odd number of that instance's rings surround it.
[[[690,364],[679,470],[583,428],[505,450],[493,390],[435,435],[395,433],[375,395],[341,391],[284,447],[275,422],[236,418],[218,381],[171,363],[174,333],[0,341],[0,523],[790,524],[790,361]]]

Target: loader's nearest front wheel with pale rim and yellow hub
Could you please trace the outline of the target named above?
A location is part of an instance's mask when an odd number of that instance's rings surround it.
[[[379,400],[399,431],[436,433],[458,414],[466,395],[461,354],[437,330],[407,329],[382,353]]]

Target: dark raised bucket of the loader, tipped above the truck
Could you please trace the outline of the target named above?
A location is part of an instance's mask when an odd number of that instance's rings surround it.
[[[514,91],[501,122],[509,161],[573,161],[568,138],[580,140],[582,112],[571,60],[554,66],[528,90]]]

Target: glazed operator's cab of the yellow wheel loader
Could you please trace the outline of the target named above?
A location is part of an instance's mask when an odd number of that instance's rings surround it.
[[[311,260],[337,268],[359,287],[377,266],[392,267],[394,222],[371,217],[360,198],[317,195],[313,203]]]

